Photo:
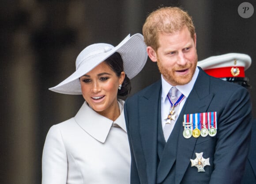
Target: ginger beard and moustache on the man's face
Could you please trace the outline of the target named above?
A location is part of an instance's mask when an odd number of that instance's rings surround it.
[[[177,66],[175,68],[172,68],[171,70],[168,70],[168,68],[162,66],[161,61],[159,62],[159,58],[157,59],[157,65],[160,73],[163,75],[164,79],[171,85],[185,85],[188,84],[192,80],[192,77],[196,71],[197,67],[197,54],[195,57],[195,62],[190,63],[188,62],[185,66]],[[191,72],[189,74],[183,75],[183,76],[177,76],[175,74],[175,70],[183,70],[183,69],[190,69]]]

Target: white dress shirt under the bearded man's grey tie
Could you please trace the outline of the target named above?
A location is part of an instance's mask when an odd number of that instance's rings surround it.
[[[179,97],[181,95],[181,93],[184,95],[184,99],[181,101],[181,103],[179,104],[179,110],[177,113],[177,118],[180,115],[180,112],[182,110],[182,107],[184,106],[184,103],[186,102],[186,99],[188,98],[189,93],[191,92],[195,82],[196,82],[196,78],[199,74],[199,69],[196,67],[196,71],[195,74],[192,77],[192,80],[186,84],[186,85],[177,85],[175,86],[179,91],[177,92],[177,96]],[[165,124],[166,124],[166,118],[169,114],[169,110],[171,107],[171,104],[169,102],[169,99],[167,97],[167,94],[169,93],[170,89],[173,87],[172,85],[170,85],[161,75],[161,79],[162,79],[162,96],[161,96],[161,120],[162,120],[162,128],[164,128]],[[176,118],[176,120],[177,120]],[[176,121],[174,121],[174,123],[171,123],[171,131],[173,130],[173,127],[175,125]]]

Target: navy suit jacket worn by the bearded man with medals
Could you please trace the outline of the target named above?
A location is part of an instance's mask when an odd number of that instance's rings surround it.
[[[175,165],[175,184],[237,184],[241,182],[250,142],[252,105],[248,91],[240,85],[207,75],[200,67],[195,85],[176,121],[178,139],[168,140],[164,160],[158,166],[158,122],[161,121],[161,80],[126,100],[124,114],[130,143],[131,184],[162,183]],[[183,137],[183,114],[217,112],[214,137]],[[175,127],[174,127],[175,129]],[[169,141],[176,141],[177,148]],[[176,149],[175,155],[168,155]],[[198,173],[190,159],[203,152],[211,166]],[[160,167],[160,168],[158,168]],[[158,172],[159,171],[159,172]]]

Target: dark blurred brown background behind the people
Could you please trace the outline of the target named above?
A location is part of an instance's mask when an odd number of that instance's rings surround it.
[[[242,0],[1,0],[0,183],[40,184],[41,155],[49,128],[72,118],[82,96],[48,90],[75,71],[89,44],[117,45],[142,33],[148,13],[181,6],[194,20],[198,59],[230,52],[251,56],[245,74],[256,117],[256,12],[242,18]],[[246,0],[256,8],[255,0]],[[160,78],[148,60],[132,79],[132,94]]]

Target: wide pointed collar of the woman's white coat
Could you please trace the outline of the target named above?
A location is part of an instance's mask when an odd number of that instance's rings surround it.
[[[105,143],[105,140],[109,134],[113,123],[116,123],[126,132],[125,120],[124,120],[124,101],[118,101],[120,106],[120,116],[116,121],[112,121],[94,110],[92,110],[86,102],[83,103],[82,107],[79,109],[77,114],[75,115],[75,121],[77,124],[86,131],[90,136],[94,137],[94,139]]]

